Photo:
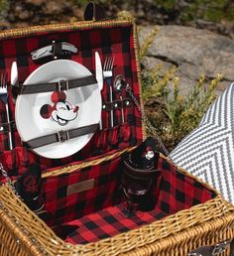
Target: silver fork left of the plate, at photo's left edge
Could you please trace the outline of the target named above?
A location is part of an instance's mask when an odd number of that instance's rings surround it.
[[[8,107],[8,92],[7,92],[7,73],[3,72],[1,74],[0,81],[0,99],[5,104],[6,114],[7,114],[7,123],[10,126],[10,116],[9,116],[9,107]],[[8,132],[8,140],[9,140],[9,149],[12,150],[12,134],[11,130]]]

